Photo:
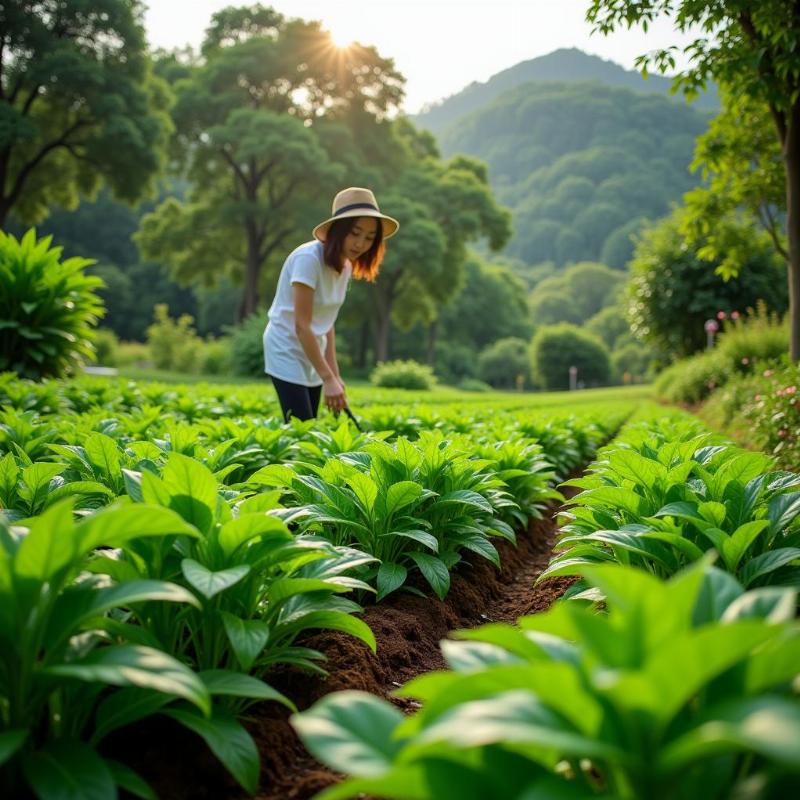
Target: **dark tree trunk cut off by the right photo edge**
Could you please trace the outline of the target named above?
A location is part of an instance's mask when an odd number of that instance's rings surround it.
[[[800,360],[800,101],[787,114],[786,141],[786,236],[789,241],[789,356]]]

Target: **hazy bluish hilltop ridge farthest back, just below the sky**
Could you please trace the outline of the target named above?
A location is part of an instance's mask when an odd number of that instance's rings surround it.
[[[415,124],[437,136],[462,117],[492,103],[501,94],[530,81],[599,81],[637,92],[669,95],[671,80],[650,75],[644,80],[640,73],[626,70],[613,61],[591,56],[576,48],[555,50],[546,56],[522,61],[498,72],[485,83],[477,81],[440,103],[413,117]],[[716,110],[719,99],[712,89],[695,101],[698,108]]]

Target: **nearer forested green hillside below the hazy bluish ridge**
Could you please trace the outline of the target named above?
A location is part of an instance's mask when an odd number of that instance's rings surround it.
[[[498,199],[514,212],[509,255],[622,268],[631,233],[697,184],[689,164],[708,119],[655,94],[531,82],[460,119],[439,141],[445,155],[487,162]]]

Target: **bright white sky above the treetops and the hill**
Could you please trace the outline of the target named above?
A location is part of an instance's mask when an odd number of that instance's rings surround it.
[[[148,0],[151,46],[199,46],[211,15],[256,0]],[[408,113],[561,47],[632,69],[637,55],[683,45],[668,21],[610,37],[591,35],[589,0],[264,0],[289,17],[321,20],[339,44],[374,45],[406,78]],[[680,66],[680,63],[679,63]]]

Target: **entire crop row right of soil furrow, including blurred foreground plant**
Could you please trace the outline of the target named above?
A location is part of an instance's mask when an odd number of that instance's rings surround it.
[[[800,789],[800,475],[686,417],[631,426],[564,514],[569,596],[446,672],[293,718],[320,798],[784,798]]]

